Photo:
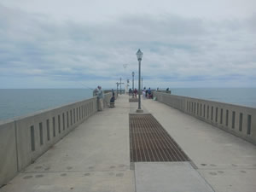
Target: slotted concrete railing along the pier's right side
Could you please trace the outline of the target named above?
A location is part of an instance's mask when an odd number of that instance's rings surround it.
[[[256,144],[256,108],[154,92],[157,101]]]

